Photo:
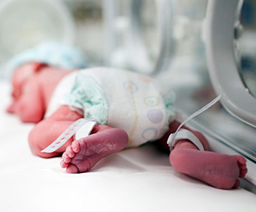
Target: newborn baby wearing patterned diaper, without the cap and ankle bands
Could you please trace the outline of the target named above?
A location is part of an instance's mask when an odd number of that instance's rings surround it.
[[[27,62],[15,69],[12,85],[8,111],[23,122],[38,123],[28,137],[32,152],[44,158],[62,154],[61,167],[68,173],[89,171],[105,156],[126,147],[154,140],[166,144],[180,124],[172,94],[163,93],[151,78],[123,69],[64,71]],[[70,124],[90,117],[98,124],[88,137],[75,140],[73,136],[53,153],[41,152]],[[170,152],[171,166],[213,187],[238,187],[238,178],[247,173],[246,159],[210,152],[205,137],[190,131],[204,150],[188,139],[178,140]]]

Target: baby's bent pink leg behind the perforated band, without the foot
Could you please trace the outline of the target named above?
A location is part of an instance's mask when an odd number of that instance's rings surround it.
[[[80,118],[83,118],[83,116],[76,111],[70,110],[67,106],[61,106],[54,114],[36,124],[33,130],[31,130],[28,136],[30,149],[36,156],[44,158],[59,156],[65,152],[68,145],[71,145],[73,137],[67,140],[67,143],[54,153],[41,153],[41,150],[44,150],[44,148],[54,142],[70,124],[73,124],[73,122]]]

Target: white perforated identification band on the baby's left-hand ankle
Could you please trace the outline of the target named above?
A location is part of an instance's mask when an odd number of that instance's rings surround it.
[[[75,140],[80,139],[81,137],[87,137],[90,135],[91,130],[94,129],[96,124],[97,121],[93,117],[91,119],[78,119],[71,124],[70,127],[67,127],[67,130],[62,132],[53,143],[44,150],[41,150],[41,153],[53,153],[64,145],[73,135],[75,135]]]

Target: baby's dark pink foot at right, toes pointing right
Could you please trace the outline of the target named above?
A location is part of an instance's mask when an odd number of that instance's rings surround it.
[[[174,149],[170,163],[181,173],[188,174],[220,189],[239,187],[239,177],[247,174],[243,156],[228,156],[193,149]]]

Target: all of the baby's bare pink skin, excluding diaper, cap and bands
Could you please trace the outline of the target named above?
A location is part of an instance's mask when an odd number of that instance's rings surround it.
[[[30,69],[28,69],[30,67]],[[32,68],[31,68],[32,67]],[[30,63],[15,72],[14,103],[8,111],[20,116],[23,122],[39,122],[59,82],[69,72],[52,67],[40,67]],[[38,71],[38,69],[40,71]],[[122,150],[128,143],[124,130],[99,125],[94,127],[91,135],[73,140],[73,137],[54,153],[41,153],[52,143],[80,114],[61,106],[49,118],[43,119],[31,130],[28,137],[30,148],[36,156],[51,158],[62,153],[62,168],[68,173],[89,171],[99,160]],[[179,123],[170,123],[168,132],[158,141],[168,149],[166,140],[175,132]],[[186,127],[185,127],[186,128]],[[239,177],[247,173],[246,160],[242,156],[228,156],[210,152],[206,138],[199,132],[192,131],[205,148],[199,151],[189,140],[180,140],[170,153],[170,164],[183,174],[202,180],[213,187],[231,189],[239,186]]]

